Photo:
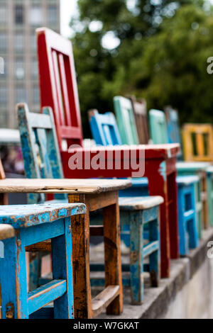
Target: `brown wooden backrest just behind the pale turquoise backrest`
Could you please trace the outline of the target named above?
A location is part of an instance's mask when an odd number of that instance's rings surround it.
[[[131,100],[133,114],[136,121],[139,143],[141,145],[147,145],[150,137],[146,101],[143,98],[136,99],[135,96],[129,96],[129,99]]]

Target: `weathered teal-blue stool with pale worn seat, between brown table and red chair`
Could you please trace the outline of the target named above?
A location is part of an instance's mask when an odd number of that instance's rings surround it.
[[[151,286],[160,280],[160,196],[119,198],[121,236],[128,235],[130,242],[131,303],[143,301],[143,272],[151,276]],[[147,225],[148,244],[143,242],[143,227]],[[149,258],[149,265],[143,259]]]

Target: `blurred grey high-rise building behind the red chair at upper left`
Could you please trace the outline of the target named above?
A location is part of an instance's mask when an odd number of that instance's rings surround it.
[[[0,0],[0,128],[16,128],[15,106],[39,111],[35,28],[60,32],[60,0]]]

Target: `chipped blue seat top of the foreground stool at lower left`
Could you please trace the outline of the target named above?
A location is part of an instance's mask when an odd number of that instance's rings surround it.
[[[40,205],[4,205],[0,206],[0,223],[13,225],[13,227],[30,227],[46,222],[53,222],[59,218],[84,214],[83,203],[49,203]]]

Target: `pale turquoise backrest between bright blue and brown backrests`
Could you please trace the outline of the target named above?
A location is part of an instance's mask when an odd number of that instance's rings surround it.
[[[114,109],[121,140],[124,145],[138,145],[138,133],[133,108],[129,98],[122,96],[114,97]]]

